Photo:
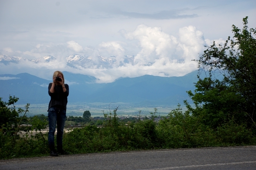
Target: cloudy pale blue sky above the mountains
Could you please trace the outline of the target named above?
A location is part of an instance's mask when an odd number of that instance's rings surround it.
[[[205,45],[223,44],[232,25],[256,28],[255,0],[0,0],[0,55],[57,60],[0,63],[0,74],[51,79],[55,70],[95,76],[183,76],[195,71]],[[115,56],[111,67],[68,67],[68,55]],[[134,63],[120,64],[125,55]]]

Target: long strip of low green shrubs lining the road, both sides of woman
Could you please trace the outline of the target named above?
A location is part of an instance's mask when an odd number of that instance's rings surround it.
[[[104,116],[100,128],[88,125],[64,133],[64,150],[71,154],[81,154],[256,144],[252,131],[244,125],[229,122],[218,129],[210,129],[179,109],[173,110],[169,117],[162,118],[158,123],[153,118],[122,122],[117,117],[117,109],[112,113],[105,113]],[[9,129],[3,133],[1,130],[0,159],[48,155],[48,134],[37,130],[37,134],[29,131],[18,135],[17,139],[14,138],[15,131]]]

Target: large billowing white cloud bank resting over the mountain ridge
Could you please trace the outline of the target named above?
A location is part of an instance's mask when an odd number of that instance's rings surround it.
[[[180,28],[177,37],[164,33],[161,27],[149,27],[144,24],[139,25],[134,31],[121,33],[133,43],[136,41],[140,49],[134,54],[133,63],[116,62],[111,68],[85,68],[76,65],[76,68],[70,67],[69,71],[95,76],[100,83],[145,74],[182,76],[197,69],[196,62],[192,60],[198,58],[206,44],[202,31],[193,26]],[[119,56],[121,62],[127,54],[127,48],[128,44],[110,41],[102,42],[95,50],[97,54],[105,54],[104,56],[114,55],[116,59]]]

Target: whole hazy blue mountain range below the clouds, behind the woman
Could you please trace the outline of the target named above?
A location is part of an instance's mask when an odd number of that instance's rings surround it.
[[[197,71],[180,77],[144,75],[135,78],[119,78],[106,84],[95,83],[96,78],[82,74],[63,72],[70,87],[68,102],[128,102],[139,105],[177,105],[194,90]],[[15,79],[14,79],[15,78]],[[9,95],[20,98],[19,103],[48,103],[48,84],[51,80],[27,73],[0,75],[0,97],[8,101]]]

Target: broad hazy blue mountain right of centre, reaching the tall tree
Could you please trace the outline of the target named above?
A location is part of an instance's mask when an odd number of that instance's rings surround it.
[[[151,105],[176,105],[189,100],[186,93],[193,90],[197,72],[181,77],[160,77],[144,75],[135,78],[121,78],[108,83],[91,96],[92,102],[129,102]]]

